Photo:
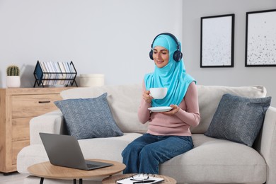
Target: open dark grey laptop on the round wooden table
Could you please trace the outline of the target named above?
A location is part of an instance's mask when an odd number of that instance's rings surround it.
[[[42,132],[39,134],[52,165],[86,171],[113,166],[112,163],[85,160],[79,142],[74,136]]]

